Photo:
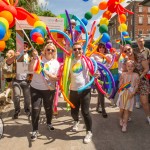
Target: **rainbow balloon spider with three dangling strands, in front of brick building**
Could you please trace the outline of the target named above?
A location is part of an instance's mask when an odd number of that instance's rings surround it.
[[[133,14],[133,12],[125,9],[121,5],[123,1],[124,0],[108,0],[108,2],[102,1],[99,3],[98,6],[92,6],[90,11],[86,12],[84,18],[82,19],[82,22],[85,25],[87,25],[88,20],[90,20],[93,15],[98,14],[99,10],[107,9],[106,11],[104,11],[102,18],[99,22],[99,32],[102,34],[101,42],[105,43],[106,48],[110,50],[112,48],[112,44],[110,42],[110,36],[108,34],[108,25],[109,25],[109,19],[111,18],[113,13],[118,14],[118,21],[120,23],[118,30],[119,32],[121,32],[122,41],[129,44],[131,40],[127,32],[127,25],[125,24],[126,22],[125,13],[128,12],[130,14]]]

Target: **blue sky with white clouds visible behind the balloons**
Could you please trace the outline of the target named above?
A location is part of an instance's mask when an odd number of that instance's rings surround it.
[[[92,6],[98,6],[98,4],[102,0],[88,0],[87,2],[84,2],[83,0],[38,0],[38,3],[40,6],[42,6],[44,9],[51,10],[52,13],[55,15],[63,14],[65,13],[65,10],[68,11],[70,14],[74,14],[80,19],[84,18],[84,14],[88,11],[90,11]],[[122,3],[122,5],[126,5],[126,1]],[[94,20],[99,23],[101,15],[103,14],[103,11],[99,11],[97,15],[93,15],[92,19],[89,20],[87,25],[87,30],[90,31],[91,25]],[[95,37],[99,36],[99,31],[97,29]]]

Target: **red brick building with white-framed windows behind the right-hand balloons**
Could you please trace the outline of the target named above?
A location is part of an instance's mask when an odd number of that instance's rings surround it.
[[[126,13],[128,33],[133,41],[139,35],[150,37],[150,6],[140,5],[141,2],[142,0],[129,1],[126,6],[126,9],[134,12],[133,15]],[[117,47],[116,39],[120,39],[121,36],[118,26],[118,15],[115,15],[110,19],[109,25],[109,34],[114,47]]]

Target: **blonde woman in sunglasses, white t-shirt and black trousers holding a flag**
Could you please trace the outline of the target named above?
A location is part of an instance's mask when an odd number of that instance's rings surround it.
[[[53,99],[55,95],[55,84],[57,81],[57,72],[59,70],[59,62],[57,61],[57,49],[54,44],[47,44],[43,54],[38,58],[38,53],[33,50],[33,59],[30,64],[30,71],[33,70],[37,59],[41,59],[43,64],[43,73],[33,73],[31,81],[31,106],[32,106],[32,127],[33,132],[31,140],[36,140],[38,133],[38,121],[43,101],[46,112],[47,126],[49,130],[54,130],[51,124],[53,115]]]

